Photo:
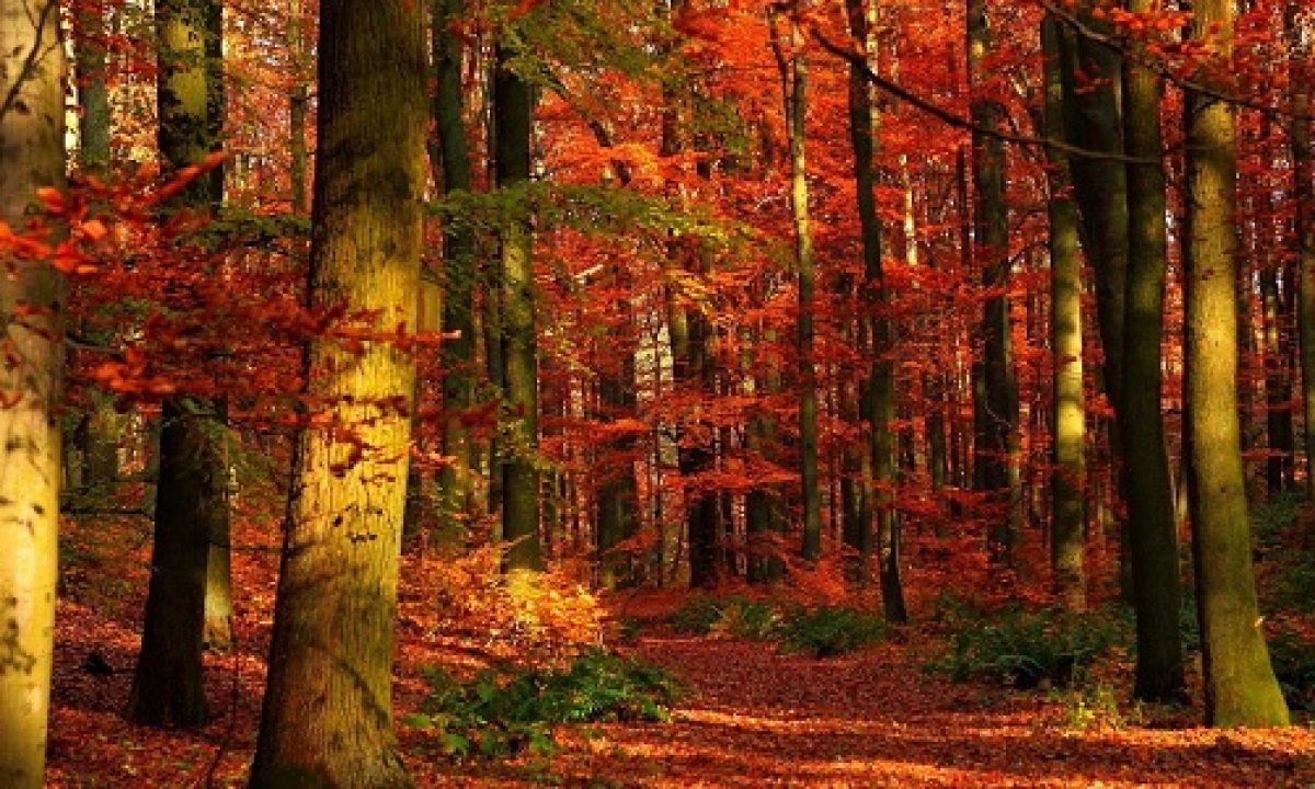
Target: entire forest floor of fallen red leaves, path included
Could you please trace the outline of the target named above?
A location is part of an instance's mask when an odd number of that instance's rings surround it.
[[[135,535],[135,537],[134,537]],[[243,535],[250,537],[250,535]],[[235,558],[238,647],[206,658],[214,721],[199,731],[133,726],[132,684],[149,530],[66,529],[50,725],[53,788],[241,786],[259,721],[274,598],[272,540]],[[132,550],[124,550],[126,547]],[[414,562],[412,562],[414,564]],[[404,604],[421,596],[404,579]],[[552,756],[452,764],[398,725],[418,786],[1315,786],[1315,727],[1219,731],[1191,710],[1151,710],[1137,726],[1073,726],[1073,698],[949,684],[922,671],[935,642],[917,631],[830,659],[664,627],[679,597],[630,598],[647,622],[625,647],[688,689],[668,723],[562,731]],[[405,605],[404,605],[405,609]],[[402,617],[398,717],[425,694],[422,669],[462,660],[431,623]],[[89,671],[96,654],[105,665]],[[92,663],[96,663],[95,660]]]

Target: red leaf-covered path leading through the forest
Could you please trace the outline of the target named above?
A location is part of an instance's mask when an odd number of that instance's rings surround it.
[[[1072,731],[1063,701],[951,685],[924,650],[817,660],[654,634],[636,652],[692,694],[668,725],[606,726],[550,772],[572,786],[1315,786],[1307,730]],[[484,784],[497,785],[497,784]],[[504,784],[505,785],[505,784]]]

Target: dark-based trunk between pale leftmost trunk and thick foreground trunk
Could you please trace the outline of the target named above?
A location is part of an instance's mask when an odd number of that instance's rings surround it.
[[[221,13],[214,0],[155,4],[158,139],[174,170],[200,162],[218,145],[222,89],[216,80],[222,71],[213,59],[221,51]],[[168,208],[206,212],[222,195],[216,168],[192,180]],[[128,717],[137,723],[191,727],[209,718],[201,652],[212,542],[229,534],[224,422],[222,404],[209,398],[174,397],[160,416],[151,579],[128,700]],[[217,625],[214,635],[226,642],[227,623]]]

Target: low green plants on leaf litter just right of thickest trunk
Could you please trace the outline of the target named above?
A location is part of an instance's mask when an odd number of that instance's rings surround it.
[[[679,693],[665,671],[597,648],[564,669],[494,667],[462,682],[435,668],[427,677],[429,698],[404,722],[456,759],[552,752],[560,723],[667,721]]]

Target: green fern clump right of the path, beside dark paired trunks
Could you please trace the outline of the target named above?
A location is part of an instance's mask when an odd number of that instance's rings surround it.
[[[982,679],[1015,688],[1068,688],[1112,646],[1126,640],[1116,618],[1011,605],[960,621],[949,648],[928,668],[955,681]]]

